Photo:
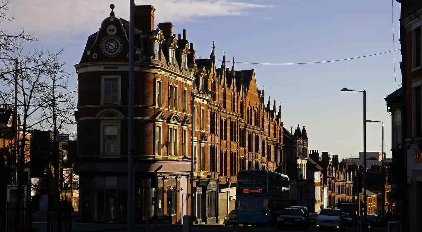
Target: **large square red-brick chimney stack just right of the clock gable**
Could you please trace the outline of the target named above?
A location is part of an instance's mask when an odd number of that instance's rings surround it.
[[[135,27],[143,32],[153,31],[154,12],[153,5],[135,5]]]

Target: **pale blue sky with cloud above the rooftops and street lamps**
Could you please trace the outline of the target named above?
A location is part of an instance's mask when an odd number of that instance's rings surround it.
[[[28,46],[58,51],[77,75],[87,37],[96,32],[114,3],[116,17],[129,19],[129,0],[10,0],[2,21],[7,32],[25,29],[38,41]],[[400,48],[400,4],[395,0],[135,0],[154,5],[155,25],[171,21],[173,33],[187,29],[196,56],[208,58],[213,41],[216,59],[254,63],[300,63],[365,56]],[[156,26],[157,27],[157,26]],[[394,40],[393,40],[394,31]],[[303,65],[239,64],[255,69],[265,98],[281,103],[284,127],[305,125],[309,149],[341,157],[363,150],[362,93],[366,117],[384,122],[384,152],[391,157],[391,116],[384,97],[400,88],[400,51],[347,61]],[[216,61],[217,66],[221,61]],[[231,64],[230,64],[231,67]],[[395,70],[394,70],[395,69]],[[381,124],[367,123],[367,151],[381,151]]]

